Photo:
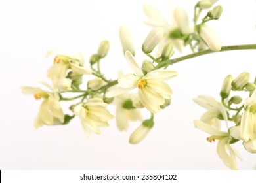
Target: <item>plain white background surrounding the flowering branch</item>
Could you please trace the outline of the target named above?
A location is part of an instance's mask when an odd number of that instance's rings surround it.
[[[173,0],[171,5],[185,8],[192,23],[195,3]],[[220,99],[219,90],[228,74],[235,77],[248,71],[253,80],[255,50],[221,52],[169,67],[179,73],[169,81],[172,105],[156,115],[154,129],[138,145],[128,140],[139,122],[120,132],[112,120],[102,135],[91,139],[85,137],[78,118],[64,126],[33,128],[41,101],[23,95],[20,86],[39,86],[33,78],[46,79],[53,64],[53,58],[45,58],[47,51],[81,52],[88,61],[99,42],[108,39],[111,48],[102,60],[102,71],[113,79],[118,70],[129,73],[119,27],[125,25],[133,33],[141,63],[146,57],[140,46],[151,29],[143,24],[145,4],[171,19],[167,1],[0,1],[0,169],[227,169],[217,156],[217,142],[207,142],[207,134],[194,128],[193,120],[205,110],[192,99],[200,94]],[[223,15],[208,25],[219,33],[223,45],[255,44],[255,1],[217,4],[223,5]],[[110,110],[114,113],[113,107]],[[238,168],[255,169],[255,154],[246,152],[241,143],[234,147],[244,158],[238,160]]]

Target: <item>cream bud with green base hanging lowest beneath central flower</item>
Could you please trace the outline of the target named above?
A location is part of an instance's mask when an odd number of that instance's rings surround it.
[[[153,120],[144,120],[144,122],[142,122],[142,124],[135,131],[133,131],[129,142],[131,144],[138,144],[146,137],[146,135],[148,135],[148,132],[150,131],[150,129],[152,129],[153,126]]]

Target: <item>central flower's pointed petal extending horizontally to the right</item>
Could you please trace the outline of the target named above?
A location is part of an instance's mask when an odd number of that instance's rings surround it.
[[[146,80],[158,80],[158,81],[164,81],[169,80],[170,78],[173,78],[174,76],[177,76],[178,73],[175,71],[168,71],[168,70],[154,70],[150,73],[146,74],[143,78]]]

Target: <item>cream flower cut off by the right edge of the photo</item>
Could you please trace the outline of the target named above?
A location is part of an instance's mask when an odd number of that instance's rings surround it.
[[[256,139],[256,90],[245,99],[241,120],[241,137],[247,142]]]

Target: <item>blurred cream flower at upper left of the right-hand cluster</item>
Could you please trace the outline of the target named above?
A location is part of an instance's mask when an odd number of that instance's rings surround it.
[[[213,97],[199,95],[198,98],[194,99],[194,102],[208,110],[200,118],[200,120],[202,120],[203,122],[220,128],[221,120],[219,120],[219,118],[223,118],[225,122],[228,121],[226,109],[221,103],[217,102]]]

